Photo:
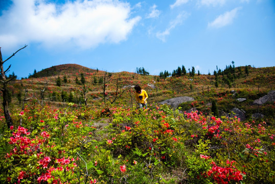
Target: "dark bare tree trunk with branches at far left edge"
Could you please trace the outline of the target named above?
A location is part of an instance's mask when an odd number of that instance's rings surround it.
[[[4,66],[3,64],[8,61],[10,58],[12,58],[17,52],[19,52],[20,50],[26,48],[27,45],[25,45],[25,47],[22,47],[21,49],[19,49],[18,51],[16,51],[15,53],[13,53],[8,59],[6,59],[5,61],[3,61],[2,59],[2,53],[1,53],[1,47],[0,47],[0,70],[1,70],[1,82],[2,82],[2,88],[0,88],[0,90],[2,91],[3,94],[3,107],[4,107],[4,116],[8,125],[8,128],[10,128],[13,125],[11,116],[10,116],[10,111],[9,111],[9,102],[8,102],[8,82],[10,82],[11,80],[13,80],[14,78],[10,78],[10,79],[6,79],[6,73],[9,71],[11,65],[9,65],[9,67],[7,68],[7,70],[4,70]]]

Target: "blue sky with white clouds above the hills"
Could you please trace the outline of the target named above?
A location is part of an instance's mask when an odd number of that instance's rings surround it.
[[[274,0],[0,0],[4,67],[18,78],[76,63],[151,75],[275,64]]]

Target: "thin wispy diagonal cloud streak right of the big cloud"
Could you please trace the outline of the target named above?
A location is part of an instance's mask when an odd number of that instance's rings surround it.
[[[180,25],[188,16],[189,14],[186,12],[178,14],[174,20],[170,21],[169,27],[165,31],[156,33],[156,37],[165,42],[166,36],[170,35],[171,30],[173,30],[177,25]]]

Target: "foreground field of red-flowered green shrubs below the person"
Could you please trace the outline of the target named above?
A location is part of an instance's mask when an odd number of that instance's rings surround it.
[[[73,103],[26,106],[12,119],[8,130],[0,119],[1,183],[275,182],[275,129],[265,122]]]

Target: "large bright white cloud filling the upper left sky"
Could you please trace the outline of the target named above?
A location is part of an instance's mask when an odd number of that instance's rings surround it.
[[[112,0],[66,1],[59,6],[41,0],[13,0],[13,6],[0,17],[0,43],[5,49],[30,42],[83,49],[119,43],[141,19],[130,14],[128,3]]]

